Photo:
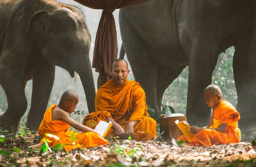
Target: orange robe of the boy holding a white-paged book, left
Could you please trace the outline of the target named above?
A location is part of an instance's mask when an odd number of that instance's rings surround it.
[[[70,125],[64,121],[52,121],[52,109],[57,105],[52,105],[44,113],[44,119],[41,122],[41,125],[38,129],[38,134],[43,136],[41,139],[41,144],[43,144],[43,139],[49,139],[49,147],[53,147],[56,144],[64,144],[64,149],[70,151],[75,148],[80,147],[96,147],[100,144],[105,145],[108,143],[107,140],[103,139],[101,136],[93,132],[84,132],[84,133],[75,133],[73,130],[69,131]],[[45,136],[46,133],[56,135],[59,137],[59,140]],[[75,143],[70,138],[71,134],[76,136],[77,140]]]

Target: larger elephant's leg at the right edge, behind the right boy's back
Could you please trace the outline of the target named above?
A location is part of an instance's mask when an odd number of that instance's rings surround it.
[[[252,34],[245,36],[235,46],[233,70],[238,96],[236,109],[240,113],[239,128],[243,134],[256,138],[256,40],[252,37]]]

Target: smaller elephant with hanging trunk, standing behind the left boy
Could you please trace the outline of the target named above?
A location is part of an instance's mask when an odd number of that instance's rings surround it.
[[[2,129],[17,127],[27,108],[24,87],[33,79],[27,127],[38,130],[52,90],[55,65],[75,79],[76,72],[79,74],[88,110],[93,112],[90,41],[78,8],[54,0],[0,1],[0,84],[8,102],[6,112],[0,116]]]

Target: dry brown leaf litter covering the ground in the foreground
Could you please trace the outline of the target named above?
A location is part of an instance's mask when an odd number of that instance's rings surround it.
[[[0,154],[0,167],[229,167],[230,164],[240,167],[239,164],[244,166],[247,162],[256,166],[255,148],[246,142],[194,147],[187,143],[177,144],[174,139],[170,142],[113,140],[108,146],[70,152],[56,150],[38,156],[39,149],[29,149],[30,145],[40,142],[37,136],[18,136],[0,142],[0,151],[9,153]]]

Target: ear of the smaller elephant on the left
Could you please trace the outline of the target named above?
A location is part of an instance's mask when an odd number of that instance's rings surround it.
[[[47,29],[49,29],[50,14],[48,11],[37,11],[29,18],[29,23],[26,31],[29,32],[32,38],[38,43],[39,48],[44,45],[47,37]]]

